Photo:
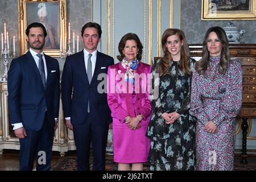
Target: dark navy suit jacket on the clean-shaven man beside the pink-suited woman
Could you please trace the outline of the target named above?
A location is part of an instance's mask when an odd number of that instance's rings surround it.
[[[61,77],[61,99],[64,117],[71,117],[71,123],[80,125],[85,122],[88,100],[90,100],[92,125],[109,124],[110,109],[107,94],[98,92],[97,87],[102,80],[97,80],[97,77],[100,73],[105,73],[104,81],[107,84],[108,67],[113,64],[113,57],[97,52],[96,66],[89,84],[84,51],[67,57]],[[104,89],[104,86],[100,86],[100,89]],[[105,89],[107,89],[106,85]]]

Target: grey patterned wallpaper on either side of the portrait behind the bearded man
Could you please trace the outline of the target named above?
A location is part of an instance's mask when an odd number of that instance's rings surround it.
[[[91,0],[67,0],[68,19],[71,23],[71,32],[75,32],[81,38],[81,29],[86,22],[91,18]],[[19,56],[19,24],[18,24],[18,0],[0,1],[0,34],[3,32],[3,23],[7,23],[7,31],[9,31],[10,38],[15,35],[16,41],[16,55]],[[72,35],[71,34],[71,35]],[[12,39],[11,39],[12,40]],[[80,50],[82,49],[82,40],[79,43]],[[13,42],[10,41],[10,48],[13,48]],[[57,59],[60,63],[62,71],[64,60]]]

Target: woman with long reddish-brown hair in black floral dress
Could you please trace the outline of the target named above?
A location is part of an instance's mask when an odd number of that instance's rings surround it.
[[[164,57],[152,68],[153,114],[146,136],[151,139],[150,170],[195,169],[195,119],[189,115],[192,66],[184,32],[168,28],[162,36]],[[157,77],[159,76],[159,77]],[[159,87],[158,87],[159,86]],[[152,96],[157,96],[155,91]]]

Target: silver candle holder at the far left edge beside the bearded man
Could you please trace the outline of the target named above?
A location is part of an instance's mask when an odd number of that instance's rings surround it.
[[[15,52],[13,53],[13,55],[11,55],[10,49],[7,48],[7,43],[5,40],[5,49],[2,49],[0,57],[1,61],[3,62],[3,65],[5,65],[5,71],[3,72],[3,76],[1,75],[2,77],[0,78],[0,81],[7,82],[8,64],[11,59],[14,59],[14,57],[16,57]]]

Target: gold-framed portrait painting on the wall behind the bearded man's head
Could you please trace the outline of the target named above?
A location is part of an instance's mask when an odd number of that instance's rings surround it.
[[[18,4],[20,55],[29,49],[27,26],[40,22],[47,30],[44,53],[60,57],[60,45],[64,45],[67,32],[67,0],[18,0]]]

